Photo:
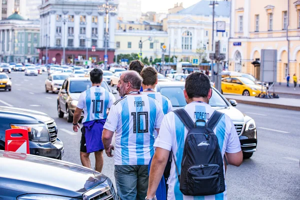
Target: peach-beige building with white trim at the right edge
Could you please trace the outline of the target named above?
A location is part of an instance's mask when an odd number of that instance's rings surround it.
[[[231,0],[229,70],[259,78],[261,49],[277,49],[277,82],[300,74],[300,0]]]

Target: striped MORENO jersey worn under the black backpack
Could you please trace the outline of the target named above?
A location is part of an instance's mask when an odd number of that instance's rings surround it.
[[[200,102],[192,102],[183,107],[188,113],[190,118],[193,121],[197,119],[207,120],[210,118],[214,109],[206,104]],[[214,133],[217,136],[219,146],[221,148],[222,156],[225,152],[236,153],[241,150],[240,142],[234,127],[232,120],[224,114],[222,118],[217,123],[214,128]],[[181,160],[184,148],[184,140],[187,134],[187,129],[184,127],[183,123],[174,114],[174,112],[167,113],[161,123],[159,132],[154,146],[164,148],[167,150],[172,150],[175,156],[176,164],[178,170],[181,170]],[[162,134],[163,133],[163,134]],[[225,175],[225,166],[224,175]],[[181,193],[179,189],[179,181],[177,173],[175,170],[174,160],[172,159],[170,176],[168,179],[168,191],[167,199],[180,199],[180,200],[193,200],[193,199],[202,199],[202,200],[223,200],[227,199],[227,191],[225,190],[222,193],[209,196],[185,196]],[[225,189],[227,189],[225,182]]]

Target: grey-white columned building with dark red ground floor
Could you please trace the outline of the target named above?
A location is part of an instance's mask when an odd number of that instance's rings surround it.
[[[106,15],[98,12],[98,6],[103,3],[104,0],[42,0],[39,6],[41,40],[39,58],[43,62],[48,57],[48,63],[63,63],[64,47],[64,63],[89,57],[95,62],[103,61]],[[109,13],[108,63],[113,62],[116,18],[116,14]],[[95,46],[95,51],[91,51],[92,46]]]

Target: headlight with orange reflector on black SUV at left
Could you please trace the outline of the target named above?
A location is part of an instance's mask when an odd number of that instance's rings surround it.
[[[38,124],[10,124],[11,128],[22,128],[28,130],[28,137],[31,141],[50,141],[48,128],[43,123]]]

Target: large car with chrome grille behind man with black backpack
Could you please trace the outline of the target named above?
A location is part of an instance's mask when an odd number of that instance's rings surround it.
[[[186,105],[183,95],[185,82],[158,82],[155,90],[168,97],[174,109]],[[214,109],[227,114],[234,123],[239,137],[241,150],[244,158],[250,158],[256,151],[257,132],[255,121],[235,108],[235,100],[227,101],[226,98],[215,88],[212,88],[212,95],[209,105]]]

